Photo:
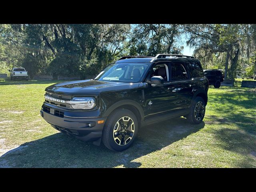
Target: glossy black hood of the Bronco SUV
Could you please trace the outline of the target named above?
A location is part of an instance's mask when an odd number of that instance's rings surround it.
[[[45,89],[47,92],[68,95],[91,95],[101,92],[138,88],[140,83],[108,82],[98,80],[80,80],[53,84]]]

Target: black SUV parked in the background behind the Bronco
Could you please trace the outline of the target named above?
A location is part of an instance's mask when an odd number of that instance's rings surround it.
[[[218,69],[204,70],[204,76],[209,80],[209,85],[213,85],[215,88],[220,87],[220,82],[223,82],[223,74]]]

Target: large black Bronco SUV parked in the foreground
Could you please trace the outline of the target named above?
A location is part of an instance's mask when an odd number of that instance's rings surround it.
[[[179,116],[202,122],[208,87],[192,56],[124,56],[94,79],[47,87],[40,113],[60,132],[122,151],[139,127]]]

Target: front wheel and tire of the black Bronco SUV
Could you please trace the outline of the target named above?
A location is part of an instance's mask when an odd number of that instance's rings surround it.
[[[128,123],[130,126],[127,127]],[[102,142],[110,150],[123,151],[132,145],[137,133],[138,120],[134,113],[127,109],[117,109],[105,123]]]

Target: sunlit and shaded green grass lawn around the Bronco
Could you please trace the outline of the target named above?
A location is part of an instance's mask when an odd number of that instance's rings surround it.
[[[0,79],[0,167],[256,167],[256,91],[210,86],[199,125],[175,118],[139,130],[112,152],[64,135],[40,116],[44,89],[57,81]]]

